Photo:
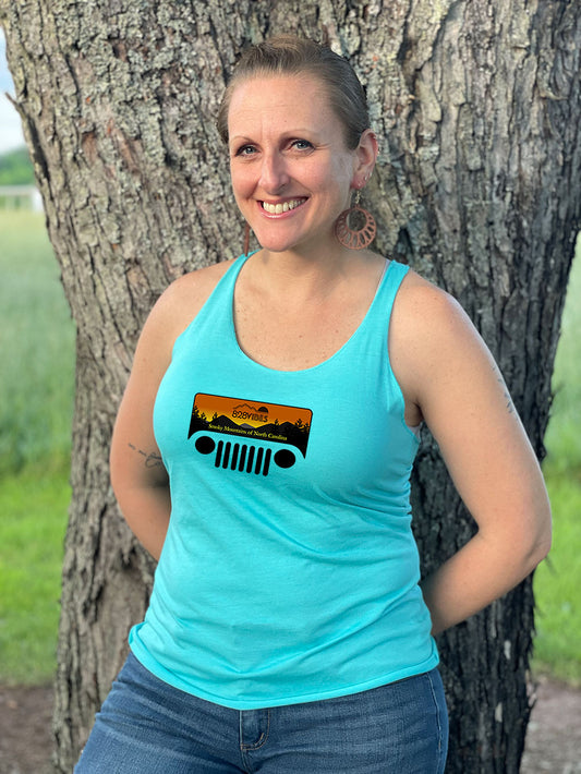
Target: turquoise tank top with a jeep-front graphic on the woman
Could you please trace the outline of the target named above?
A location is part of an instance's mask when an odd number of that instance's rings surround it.
[[[177,339],[159,386],[172,510],[132,651],[166,682],[234,710],[427,672],[438,655],[411,531],[417,438],[387,348],[408,267],[388,264],[331,358],[281,372],[238,344],[244,262]]]

